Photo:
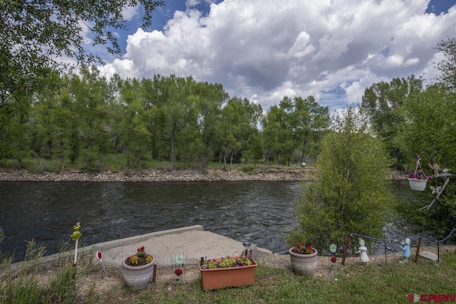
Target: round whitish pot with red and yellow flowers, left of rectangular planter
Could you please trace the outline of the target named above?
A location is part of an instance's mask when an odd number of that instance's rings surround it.
[[[122,261],[123,279],[133,290],[140,290],[150,283],[154,270],[155,256],[145,253],[144,246],[133,256]]]

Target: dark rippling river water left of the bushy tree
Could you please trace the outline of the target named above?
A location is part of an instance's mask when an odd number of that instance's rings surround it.
[[[0,251],[24,258],[34,239],[55,253],[76,219],[90,245],[182,226],[286,250],[300,182],[0,182]]]

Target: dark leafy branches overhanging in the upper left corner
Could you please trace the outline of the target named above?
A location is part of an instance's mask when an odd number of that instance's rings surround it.
[[[164,1],[87,0],[87,1],[1,1],[0,2],[0,93],[41,88],[49,75],[68,68],[59,58],[69,57],[78,63],[100,62],[85,48],[102,45],[120,55],[113,31],[124,30],[123,11],[141,5],[142,27],[152,23],[152,12]],[[68,61],[67,61],[68,62]]]

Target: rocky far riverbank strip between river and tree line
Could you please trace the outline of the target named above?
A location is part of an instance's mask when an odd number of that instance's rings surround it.
[[[406,179],[400,172],[391,172],[393,180]],[[169,172],[145,169],[130,172],[28,172],[0,169],[0,182],[227,182],[227,181],[314,181],[316,169],[254,168],[249,172],[239,169],[185,169]]]

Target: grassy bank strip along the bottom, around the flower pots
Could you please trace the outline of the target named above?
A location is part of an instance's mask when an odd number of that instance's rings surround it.
[[[4,274],[0,303],[408,303],[410,294],[454,297],[455,248],[442,251],[440,257],[440,263],[420,258],[418,264],[399,263],[399,256],[390,256],[388,263],[373,258],[366,267],[353,258],[346,266],[328,266],[324,275],[314,278],[259,263],[254,285],[213,291],[203,291],[198,276],[131,291],[118,268],[108,268],[106,277],[99,263],[81,261],[76,282],[71,279],[71,263],[44,273],[24,271],[16,278]]]

